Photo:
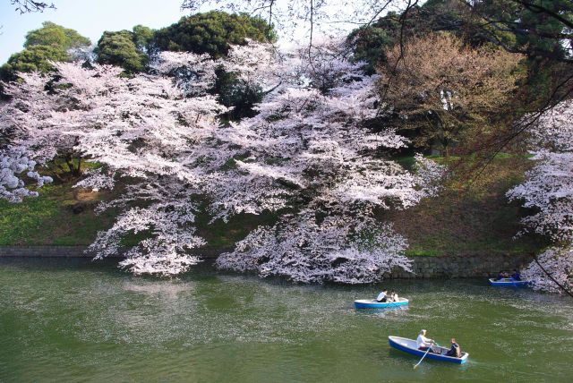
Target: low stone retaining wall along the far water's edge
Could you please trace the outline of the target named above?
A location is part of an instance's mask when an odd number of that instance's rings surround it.
[[[0,246],[0,257],[63,257],[90,258],[85,246]],[[214,259],[230,249],[197,249],[192,253]],[[122,258],[118,254],[115,258]],[[389,278],[456,278],[496,276],[500,270],[522,268],[533,260],[530,255],[458,255],[442,257],[413,257],[414,274],[396,270]]]

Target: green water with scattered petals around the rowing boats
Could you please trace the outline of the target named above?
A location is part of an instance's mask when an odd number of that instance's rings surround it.
[[[405,310],[358,312],[379,286],[220,273],[132,277],[84,260],[0,260],[0,381],[573,381],[573,300],[481,280],[395,281]],[[420,328],[465,365],[389,348]]]

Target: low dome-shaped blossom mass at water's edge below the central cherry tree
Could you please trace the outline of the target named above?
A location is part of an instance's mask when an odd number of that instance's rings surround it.
[[[371,217],[360,220],[305,209],[282,217],[275,226],[257,228],[217,264],[296,282],[369,283],[393,268],[411,271],[411,260],[402,255],[406,247],[406,240],[391,226]]]

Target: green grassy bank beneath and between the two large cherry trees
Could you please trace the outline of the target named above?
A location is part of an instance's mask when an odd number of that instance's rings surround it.
[[[38,198],[17,204],[0,200],[0,245],[89,245],[99,230],[111,227],[115,210],[94,212],[98,202],[110,194],[73,189],[73,183],[48,184],[38,189]],[[197,225],[210,248],[229,248],[273,219],[239,215],[227,224],[218,220],[209,225],[210,218],[204,215],[198,217]],[[135,235],[125,238],[124,244],[133,245],[137,239]]]

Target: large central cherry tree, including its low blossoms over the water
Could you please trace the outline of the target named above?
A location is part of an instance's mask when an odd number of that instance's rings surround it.
[[[406,140],[365,126],[377,114],[377,78],[339,48],[324,44],[310,61],[304,49],[286,55],[259,114],[219,130],[220,140],[244,148],[245,158],[235,158],[232,177],[215,173],[222,181],[210,192],[213,216],[286,209],[275,226],[259,227],[219,257],[219,267],[344,283],[410,270],[401,255],[406,240],[372,212],[415,205],[436,191],[425,186],[443,169],[418,157],[421,175],[411,174],[384,157],[384,149]]]

